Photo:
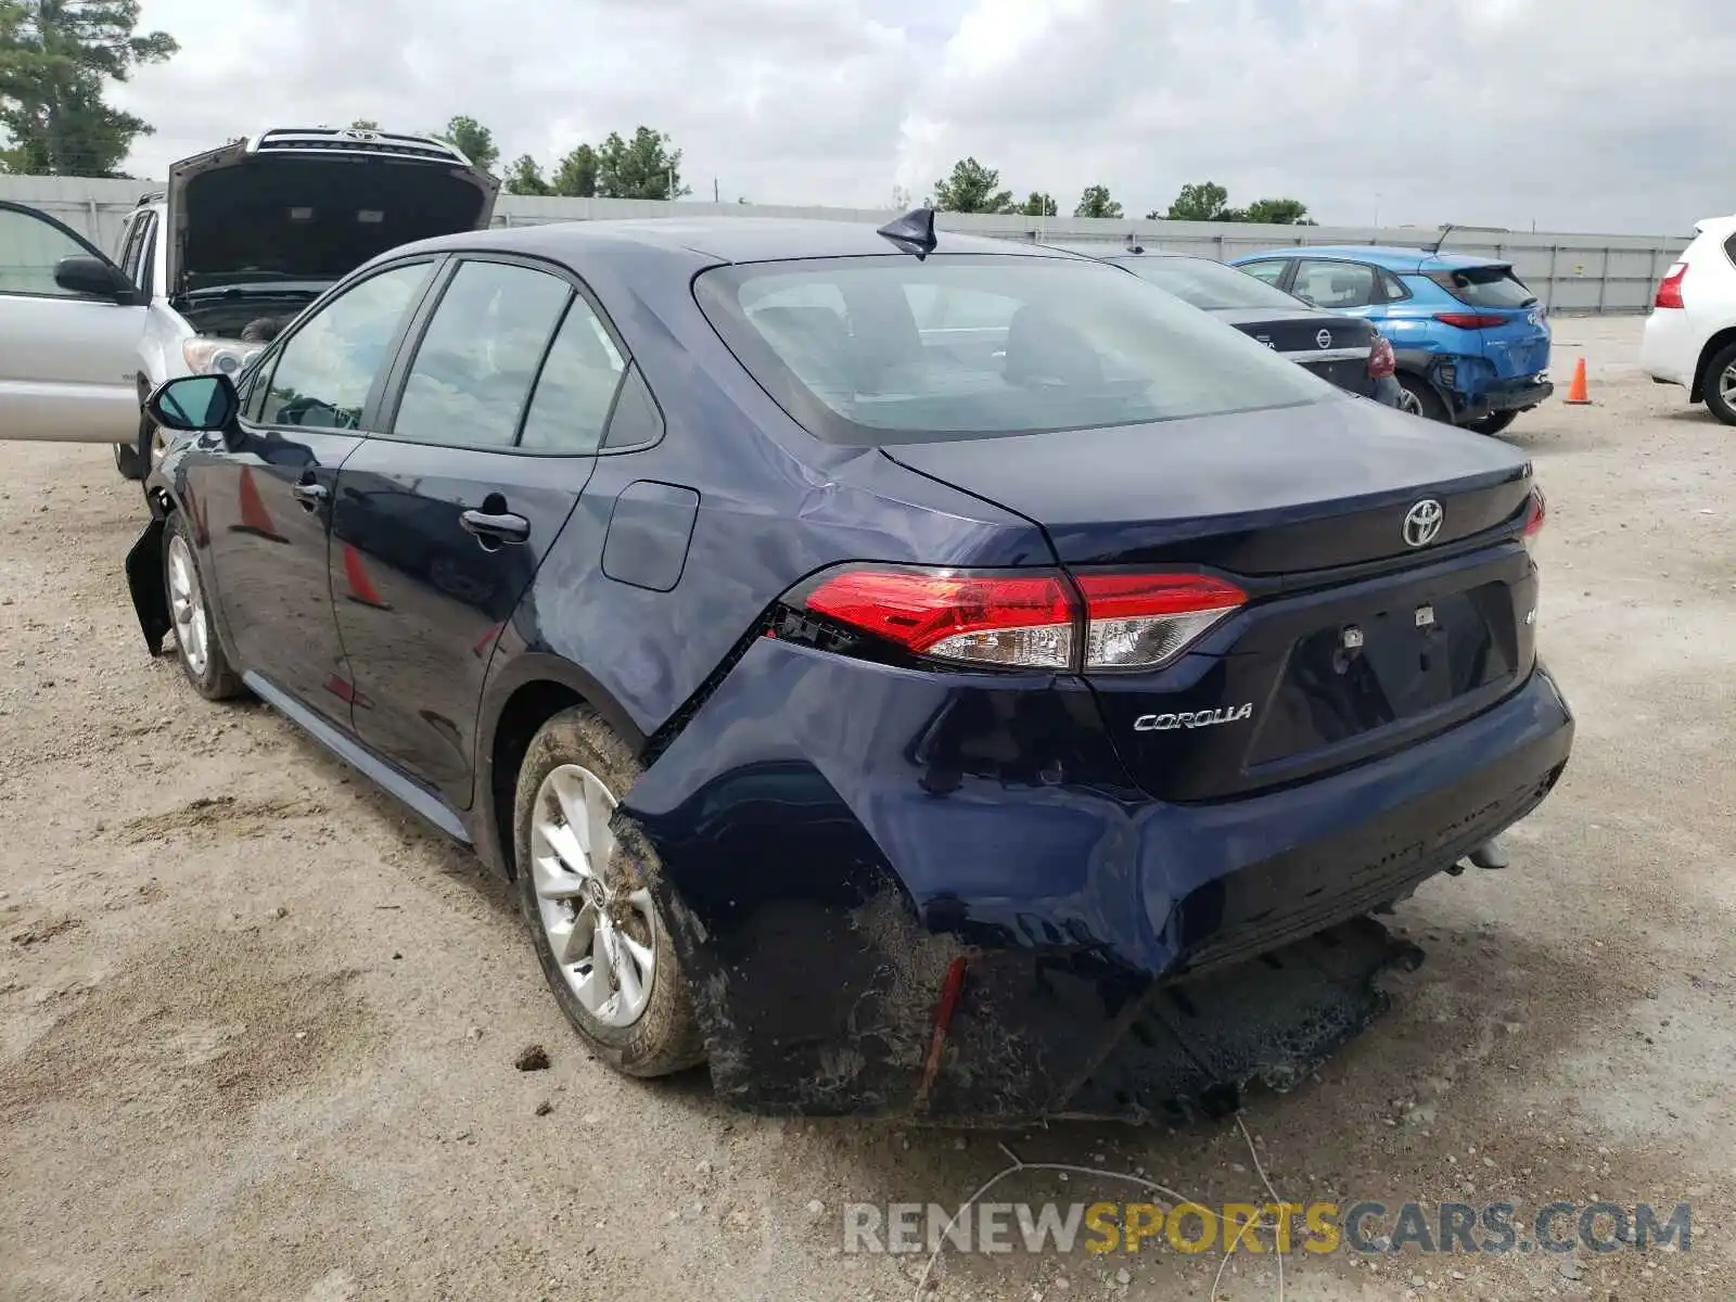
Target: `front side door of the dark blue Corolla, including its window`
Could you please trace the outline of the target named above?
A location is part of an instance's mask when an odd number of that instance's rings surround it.
[[[297,323],[253,372],[240,436],[187,453],[186,507],[238,667],[349,726],[326,569],[339,467],[370,429],[432,260],[378,271]]]

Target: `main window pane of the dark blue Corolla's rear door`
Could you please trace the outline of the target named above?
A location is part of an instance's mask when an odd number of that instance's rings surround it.
[[[464,262],[417,347],[392,437],[510,448],[571,293],[564,279],[543,271]]]

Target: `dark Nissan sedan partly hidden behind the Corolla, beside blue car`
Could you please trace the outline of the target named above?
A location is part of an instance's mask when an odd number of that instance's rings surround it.
[[[1397,380],[1392,344],[1358,316],[1321,311],[1208,257],[1142,252],[1116,253],[1104,262],[1127,267],[1182,302],[1212,312],[1340,389],[1401,411],[1422,413]]]

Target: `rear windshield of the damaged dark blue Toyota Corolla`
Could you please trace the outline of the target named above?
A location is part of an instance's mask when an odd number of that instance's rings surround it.
[[[701,311],[800,425],[849,444],[1038,434],[1337,396],[1246,335],[1087,259],[713,267]]]

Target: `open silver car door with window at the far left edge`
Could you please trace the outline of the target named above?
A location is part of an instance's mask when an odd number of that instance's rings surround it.
[[[108,262],[45,212],[0,203],[0,437],[132,443],[146,309],[62,288],[66,257]]]

